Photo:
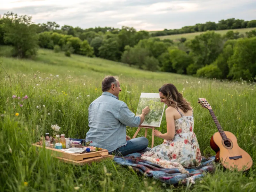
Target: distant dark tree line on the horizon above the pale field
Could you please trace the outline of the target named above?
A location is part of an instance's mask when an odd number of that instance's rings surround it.
[[[241,19],[227,19],[220,20],[218,23],[206,22],[197,23],[194,26],[185,26],[181,29],[164,29],[163,31],[157,31],[151,33],[151,36],[165,36],[165,35],[175,35],[184,33],[195,33],[201,31],[211,31],[211,30],[224,30],[224,29],[240,29],[240,28],[254,28],[256,27],[256,20],[245,21]]]

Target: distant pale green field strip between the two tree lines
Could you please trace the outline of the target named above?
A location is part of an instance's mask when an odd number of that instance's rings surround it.
[[[240,34],[244,34],[245,32],[255,30],[256,28],[243,28],[243,29],[226,29],[226,30],[216,30],[216,33],[220,33],[221,35],[225,35],[228,31],[238,31]],[[166,36],[158,36],[160,39],[171,39],[173,41],[178,41],[181,37],[185,37],[187,40],[193,39],[195,36],[200,35],[203,32],[196,33],[184,33],[184,34],[176,34],[176,35],[166,35]]]

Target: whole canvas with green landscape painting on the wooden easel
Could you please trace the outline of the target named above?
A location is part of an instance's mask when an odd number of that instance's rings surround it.
[[[150,112],[140,126],[160,127],[165,104],[161,103],[159,93],[141,93],[136,116],[139,116],[142,109],[147,106],[150,108]]]

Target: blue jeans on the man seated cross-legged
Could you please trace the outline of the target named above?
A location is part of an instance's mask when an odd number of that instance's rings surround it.
[[[146,137],[137,137],[126,141],[126,145],[110,151],[109,154],[116,156],[125,156],[128,154],[143,152],[148,147],[148,139]]]

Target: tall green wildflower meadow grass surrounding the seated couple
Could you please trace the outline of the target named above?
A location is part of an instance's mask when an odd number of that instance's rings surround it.
[[[206,98],[223,129],[236,135],[238,145],[255,162],[254,83],[148,72],[98,58],[79,55],[68,58],[63,52],[44,49],[39,50],[34,60],[18,60],[3,56],[8,49],[0,47],[0,61],[10,76],[0,69],[0,115],[4,115],[0,116],[0,191],[74,191],[78,187],[79,191],[256,190],[255,165],[247,173],[223,171],[216,165],[214,174],[206,174],[195,185],[173,187],[134,174],[110,160],[74,166],[59,162],[45,149],[31,146],[45,132],[52,134],[51,124],[60,125],[61,133],[67,137],[85,138],[89,129],[87,109],[101,95],[101,80],[106,75],[117,75],[122,88],[120,100],[134,113],[141,92],[157,93],[164,83],[175,84],[194,108],[194,131],[202,155],[212,156],[209,142],[217,129],[207,109],[197,104],[199,97]],[[28,99],[12,99],[12,95],[21,98],[27,95]],[[128,128],[127,135],[132,137],[136,129]],[[159,131],[166,132],[165,115]],[[149,131],[149,144],[150,135]],[[139,136],[144,136],[144,132]],[[155,137],[155,146],[162,142]]]

